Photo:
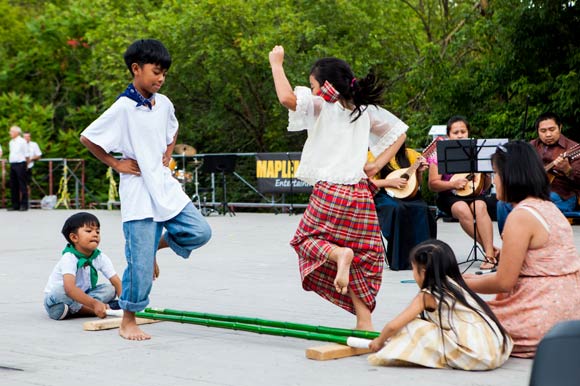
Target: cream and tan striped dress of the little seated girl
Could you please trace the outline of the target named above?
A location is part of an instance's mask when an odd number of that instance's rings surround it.
[[[425,319],[416,318],[407,324],[385,343],[383,349],[370,355],[369,362],[383,366],[419,365],[460,370],[500,367],[512,350],[511,339],[508,337],[504,349],[497,325],[466,291],[463,294],[492,327],[463,304],[456,303],[453,310],[444,304],[441,321],[437,310],[425,312]]]

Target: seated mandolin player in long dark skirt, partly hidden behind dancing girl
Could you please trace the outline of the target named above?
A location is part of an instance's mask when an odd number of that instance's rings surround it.
[[[375,195],[375,206],[381,232],[387,239],[389,268],[394,271],[411,269],[411,250],[422,241],[437,237],[437,223],[419,190],[428,168],[424,157],[435,149],[434,141],[422,156],[403,143],[395,158],[381,169],[380,179],[373,180],[384,188]]]

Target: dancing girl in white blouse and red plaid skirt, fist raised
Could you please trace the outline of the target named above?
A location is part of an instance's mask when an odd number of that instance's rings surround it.
[[[354,313],[357,329],[372,330],[385,254],[368,177],[395,155],[407,125],[377,107],[383,87],[375,77],[356,79],[343,60],[318,60],[310,89],[292,90],[284,49],[274,47],[269,59],[288,130],[308,131],[296,177],[314,188],[291,241],[302,287]]]

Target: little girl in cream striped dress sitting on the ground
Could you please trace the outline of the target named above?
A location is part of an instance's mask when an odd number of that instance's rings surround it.
[[[374,365],[420,365],[492,370],[512,350],[489,306],[463,281],[453,250],[427,240],[411,252],[413,276],[421,291],[371,342]]]

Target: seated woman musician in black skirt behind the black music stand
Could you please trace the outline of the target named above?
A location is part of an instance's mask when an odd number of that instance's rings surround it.
[[[464,117],[453,116],[447,122],[447,137],[448,139],[467,139],[469,129],[469,123]],[[465,194],[456,194],[456,191],[464,191],[465,188],[474,184],[483,184],[481,188],[476,186],[473,189],[475,192],[485,191],[489,188],[491,179],[487,175],[473,177],[463,175],[460,178],[453,178],[451,174],[439,174],[436,155],[428,158],[427,162],[429,163],[429,189],[437,193],[437,208],[459,220],[461,228],[471,238],[474,238],[474,230],[476,230],[477,242],[483,247],[486,259],[480,268],[493,268],[499,250],[493,246],[493,224],[485,198],[481,193],[471,198]],[[474,210],[476,229],[473,226]]]

